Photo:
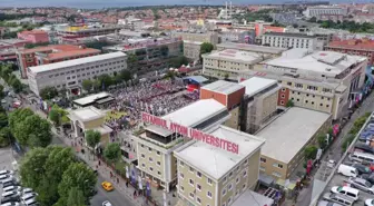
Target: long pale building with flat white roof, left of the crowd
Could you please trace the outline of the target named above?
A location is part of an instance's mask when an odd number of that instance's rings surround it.
[[[82,80],[94,79],[105,73],[119,73],[127,69],[126,59],[125,53],[112,52],[29,67],[29,87],[38,96],[40,90],[46,87],[56,87],[58,90],[67,89],[72,94],[79,94]]]

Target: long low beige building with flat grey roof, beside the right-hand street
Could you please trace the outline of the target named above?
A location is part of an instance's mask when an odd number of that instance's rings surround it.
[[[331,127],[331,115],[292,107],[260,129],[256,136],[266,139],[260,154],[260,173],[275,179],[287,179],[304,159],[304,148],[315,144],[317,134]]]

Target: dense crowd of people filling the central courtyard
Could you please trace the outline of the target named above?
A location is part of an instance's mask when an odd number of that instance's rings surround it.
[[[136,126],[141,112],[164,116],[198,100],[198,94],[188,94],[181,79],[140,82],[122,89],[110,90],[116,98],[110,110],[125,111],[119,118],[107,120],[107,125],[116,129]],[[126,124],[124,124],[126,122]]]

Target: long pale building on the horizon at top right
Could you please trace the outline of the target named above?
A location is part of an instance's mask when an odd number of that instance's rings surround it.
[[[308,7],[304,14],[307,18],[318,17],[321,14],[343,14],[346,16],[348,12],[347,8],[336,7],[336,6],[317,6]]]

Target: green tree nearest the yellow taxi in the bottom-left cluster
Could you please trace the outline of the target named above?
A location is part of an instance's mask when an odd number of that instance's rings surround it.
[[[73,163],[69,165],[68,169],[63,173],[62,179],[58,186],[60,198],[67,199],[71,188],[83,193],[86,198],[91,197],[94,188],[97,182],[97,177],[94,170],[82,163]]]

